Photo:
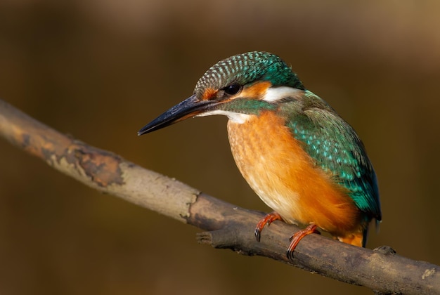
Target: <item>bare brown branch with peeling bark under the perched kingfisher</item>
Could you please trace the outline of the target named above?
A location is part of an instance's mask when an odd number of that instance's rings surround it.
[[[215,199],[112,152],[65,136],[2,100],[0,136],[91,188],[209,231],[198,234],[200,243],[266,256],[335,280],[370,287],[377,293],[440,294],[439,266],[399,256],[390,247],[372,251],[308,235],[295,249],[293,260],[288,260],[287,237],[299,230],[294,225],[275,222],[264,229],[261,242],[257,242],[253,232],[264,215],[261,212]]]

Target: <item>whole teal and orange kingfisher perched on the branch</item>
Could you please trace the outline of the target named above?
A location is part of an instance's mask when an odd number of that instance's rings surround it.
[[[138,135],[190,117],[228,117],[235,164],[252,190],[274,211],[273,221],[302,224],[287,257],[318,228],[365,247],[368,226],[382,220],[377,178],[354,129],[307,90],[278,55],[253,51],[221,60],[205,72],[193,95],[174,105]]]

